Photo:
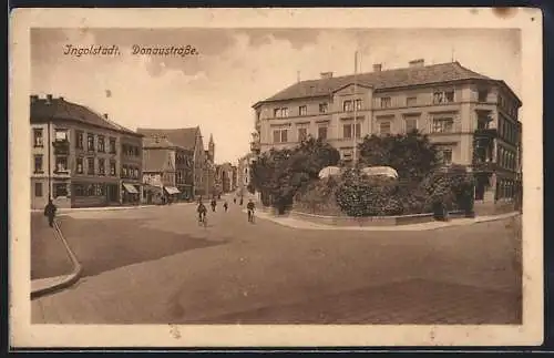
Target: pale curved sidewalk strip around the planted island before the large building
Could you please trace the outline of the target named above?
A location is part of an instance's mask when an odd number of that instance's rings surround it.
[[[243,209],[246,213],[246,209]],[[256,212],[256,216],[263,219],[271,221],[276,224],[299,228],[299,229],[322,229],[322,231],[358,231],[358,232],[419,232],[419,231],[431,231],[443,227],[451,226],[465,226],[473,225],[478,223],[485,223],[492,221],[499,221],[507,217],[513,217],[521,215],[519,212],[506,213],[501,215],[490,215],[490,216],[480,216],[474,218],[454,218],[449,222],[429,222],[429,223],[419,223],[419,224],[409,224],[409,225],[393,225],[393,226],[332,226],[332,225],[324,225],[316,224],[298,218],[287,217],[287,216],[275,216],[265,212]]]

